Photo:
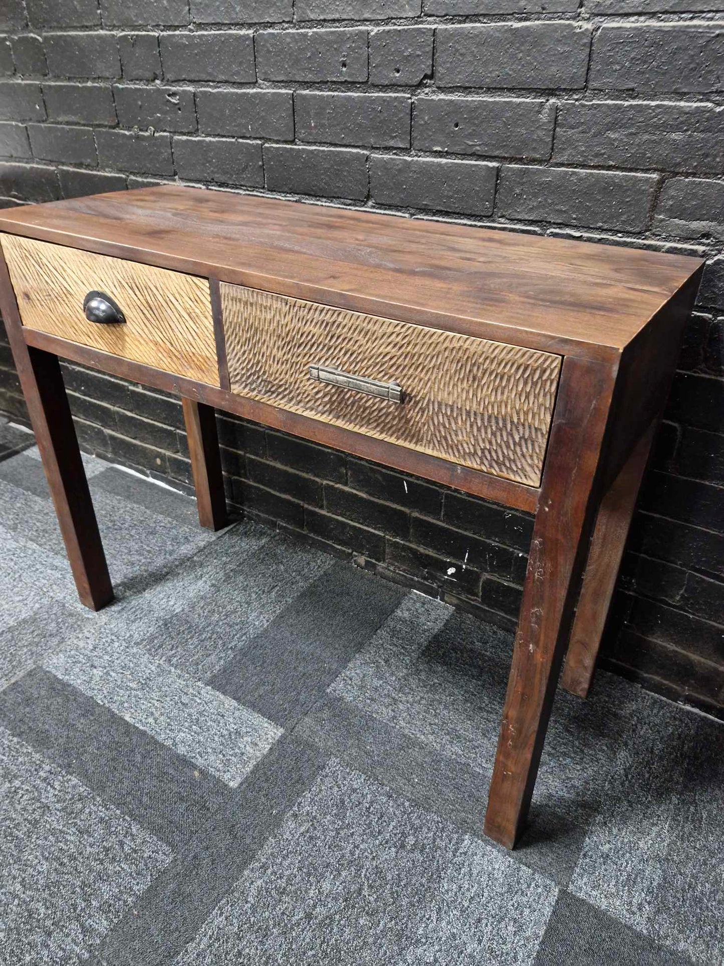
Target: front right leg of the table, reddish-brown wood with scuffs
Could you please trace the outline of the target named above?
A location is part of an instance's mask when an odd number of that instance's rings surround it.
[[[564,361],[487,800],[486,834],[507,848],[522,831],[538,774],[595,517],[614,379],[608,365]]]

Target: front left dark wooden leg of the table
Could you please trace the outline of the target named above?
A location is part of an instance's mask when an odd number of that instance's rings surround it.
[[[1,252],[0,310],[78,596],[86,607],[98,611],[113,600],[113,587],[58,356],[26,346],[8,267]]]

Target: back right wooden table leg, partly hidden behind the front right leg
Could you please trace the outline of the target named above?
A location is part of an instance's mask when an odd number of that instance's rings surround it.
[[[641,438],[600,503],[561,678],[572,695],[585,697],[591,687],[654,431],[653,425]]]

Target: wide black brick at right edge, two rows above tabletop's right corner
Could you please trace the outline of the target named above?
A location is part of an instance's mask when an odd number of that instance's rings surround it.
[[[724,110],[647,101],[562,104],[553,157],[581,164],[720,175]]]

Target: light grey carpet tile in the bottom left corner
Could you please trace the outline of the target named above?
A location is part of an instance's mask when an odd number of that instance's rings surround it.
[[[171,859],[80,781],[0,728],[0,961],[82,961]]]

